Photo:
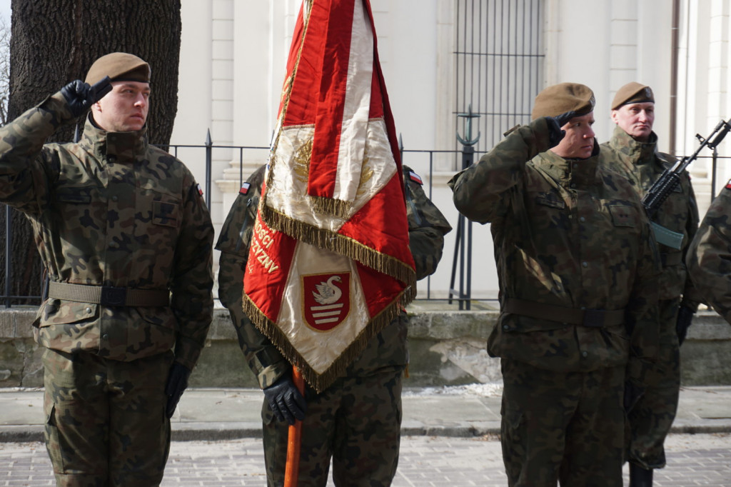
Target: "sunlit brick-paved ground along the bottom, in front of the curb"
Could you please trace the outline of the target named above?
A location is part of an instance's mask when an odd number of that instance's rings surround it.
[[[731,486],[730,434],[671,434],[655,487]],[[625,466],[625,485],[628,484]],[[42,443],[0,443],[0,486],[53,486]],[[327,484],[334,486],[332,480]],[[506,486],[494,437],[404,437],[393,487]],[[261,440],[173,442],[162,487],[266,486]]]

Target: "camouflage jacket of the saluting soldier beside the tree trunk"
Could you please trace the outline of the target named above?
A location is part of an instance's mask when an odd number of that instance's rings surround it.
[[[213,312],[213,226],[199,186],[148,146],[144,128],[107,133],[87,121],[78,143],[44,145],[71,118],[57,93],[0,129],[0,200],[30,219],[51,282],[169,290],[170,306],[47,299],[37,341],[113,360],[175,347],[192,369]]]

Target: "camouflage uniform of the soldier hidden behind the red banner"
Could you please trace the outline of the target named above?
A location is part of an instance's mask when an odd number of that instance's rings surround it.
[[[292,369],[241,309],[243,268],[264,170],[260,167],[242,186],[216,243],[216,249],[221,250],[219,298],[230,311],[241,350],[262,388]],[[417,277],[423,278],[436,270],[443,235],[451,228],[425,196],[420,178],[407,167],[404,179],[409,244]],[[406,314],[401,313],[371,339],[360,357],[327,390],[317,394],[306,389],[298,485],[325,486],[331,457],[336,485],[390,485],[398,464],[401,375],[409,362],[407,324]],[[281,486],[288,425],[276,420],[266,400],[262,422],[268,484]]]

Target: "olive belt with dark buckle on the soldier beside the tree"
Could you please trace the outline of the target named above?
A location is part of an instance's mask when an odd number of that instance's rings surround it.
[[[170,291],[167,289],[133,289],[49,282],[48,297],[78,303],[96,303],[102,306],[170,306]]]

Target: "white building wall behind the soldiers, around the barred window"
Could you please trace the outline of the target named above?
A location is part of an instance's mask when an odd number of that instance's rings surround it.
[[[300,4],[300,0],[182,0],[181,76],[172,144],[203,143],[211,129],[214,146],[268,146]],[[661,150],[667,147],[672,4],[673,0],[544,0],[543,79],[547,86],[575,81],[594,90],[600,142],[613,131],[610,103],[617,88],[636,80],[654,90],[655,131]],[[371,0],[371,7],[404,148],[455,148],[455,1]],[[709,132],[731,113],[730,8],[727,0],[681,0],[675,133],[679,154],[697,147],[695,133]],[[730,143],[721,144],[721,155],[731,153]],[[246,177],[264,163],[267,151],[216,149],[213,154],[211,215],[219,230],[238,192],[240,175]],[[181,149],[179,155],[203,181],[202,152]],[[431,182],[433,201],[456,227],[457,212],[446,186],[455,172],[453,161],[436,156]],[[429,184],[427,156],[407,152],[404,162]],[[704,197],[699,186],[708,186],[709,165],[703,159],[692,167],[702,212],[710,189]],[[721,178],[731,177],[727,166],[731,167],[724,164]],[[493,297],[497,280],[489,225],[474,224],[473,231],[473,295]],[[440,295],[447,292],[450,281],[455,233],[447,235],[442,263],[431,282],[432,292]]]

